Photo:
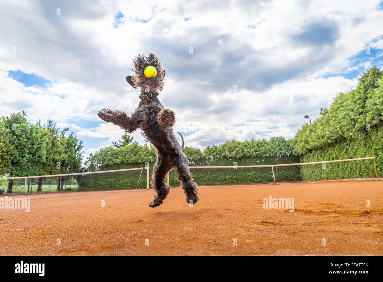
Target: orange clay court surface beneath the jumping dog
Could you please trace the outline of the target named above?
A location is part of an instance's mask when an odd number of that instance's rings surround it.
[[[173,188],[157,208],[148,206],[153,190],[28,195],[30,212],[0,209],[0,255],[383,255],[382,188],[200,186],[193,207]],[[295,211],[262,208],[270,195],[294,198]]]

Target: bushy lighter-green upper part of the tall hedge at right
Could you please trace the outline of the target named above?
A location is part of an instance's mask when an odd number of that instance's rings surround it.
[[[329,145],[359,139],[383,122],[383,72],[373,67],[359,79],[356,89],[339,93],[331,107],[321,109],[321,117],[305,124],[294,139],[294,152],[304,155]],[[366,135],[364,135],[366,137]],[[368,140],[367,140],[368,141]]]

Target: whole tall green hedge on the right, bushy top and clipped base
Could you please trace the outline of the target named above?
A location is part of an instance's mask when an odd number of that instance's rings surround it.
[[[372,67],[359,78],[358,86],[339,93],[321,117],[303,125],[294,139],[301,162],[376,157],[383,175],[383,72]],[[301,166],[302,180],[376,177],[373,160]]]

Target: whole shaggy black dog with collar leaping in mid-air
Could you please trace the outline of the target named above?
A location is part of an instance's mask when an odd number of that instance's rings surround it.
[[[165,176],[171,168],[177,169],[178,180],[182,182],[183,191],[188,203],[198,201],[197,186],[190,175],[188,159],[174,136],[172,126],[175,122],[174,112],[164,109],[157,96],[164,87],[165,71],[158,58],[151,53],[149,57],[139,55],[134,58],[134,76],[127,76],[126,81],[133,88],[140,87],[141,99],[137,109],[131,117],[120,110],[103,109],[98,116],[106,122],[118,125],[128,133],[141,128],[144,136],[157,150],[157,162],[153,168],[151,184],[157,192],[150,207],[162,204],[169,193],[169,186],[165,183]],[[155,77],[146,78],[144,70],[147,66],[154,66],[157,70]],[[182,140],[183,141],[183,140]]]

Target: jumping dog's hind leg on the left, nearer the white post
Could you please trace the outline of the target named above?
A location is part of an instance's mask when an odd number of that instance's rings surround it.
[[[157,157],[151,181],[151,185],[154,187],[157,195],[154,196],[152,201],[149,203],[151,208],[155,208],[156,206],[162,204],[162,201],[165,200],[166,196],[169,194],[170,187],[165,183],[165,176],[169,172],[170,168],[171,167],[167,162],[162,162],[162,158],[160,156]]]

